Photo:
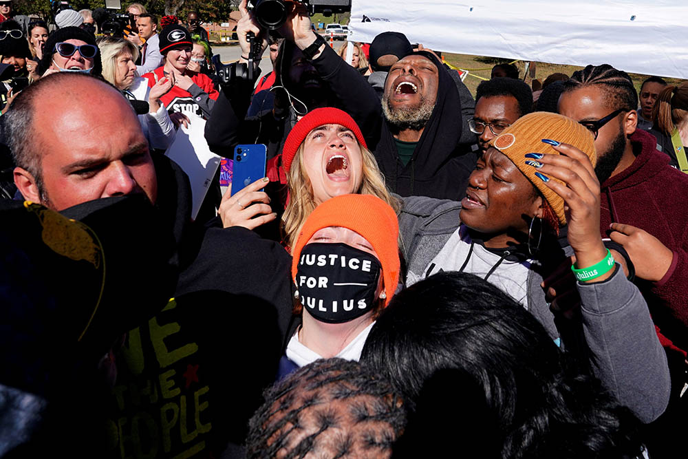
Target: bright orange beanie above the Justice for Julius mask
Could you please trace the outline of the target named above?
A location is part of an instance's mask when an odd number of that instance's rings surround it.
[[[292,279],[303,246],[316,231],[329,226],[343,226],[365,237],[378,254],[383,266],[383,280],[389,304],[399,281],[399,222],[394,209],[374,195],[341,195],[330,198],[315,208],[301,228],[292,250]]]

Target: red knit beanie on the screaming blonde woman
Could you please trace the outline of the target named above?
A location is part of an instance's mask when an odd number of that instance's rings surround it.
[[[310,131],[322,125],[341,125],[347,129],[351,129],[354,136],[356,136],[356,140],[358,140],[358,145],[367,148],[361,129],[358,128],[354,118],[347,114],[347,112],[334,107],[316,108],[308,112],[306,116],[301,118],[299,122],[294,125],[294,128],[287,136],[287,140],[284,141],[284,147],[282,149],[282,166],[286,173],[289,173],[294,156],[296,156],[297,150],[301,146],[301,142],[303,142],[305,136],[308,136]]]

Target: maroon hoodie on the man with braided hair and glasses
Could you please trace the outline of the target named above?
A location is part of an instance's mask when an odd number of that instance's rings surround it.
[[[631,144],[634,162],[602,184],[600,231],[608,237],[612,222],[630,224],[674,252],[663,279],[639,287],[663,334],[688,349],[688,175],[669,166],[652,134],[637,129]]]

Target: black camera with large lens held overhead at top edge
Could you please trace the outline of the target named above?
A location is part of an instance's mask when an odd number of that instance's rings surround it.
[[[275,30],[286,22],[293,3],[305,5],[311,16],[322,13],[330,17],[333,13],[351,11],[351,0],[250,0],[256,21],[268,30]]]

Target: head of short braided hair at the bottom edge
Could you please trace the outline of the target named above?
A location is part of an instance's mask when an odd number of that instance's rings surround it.
[[[318,360],[264,394],[249,422],[246,457],[379,458],[406,424],[402,399],[354,361]]]

